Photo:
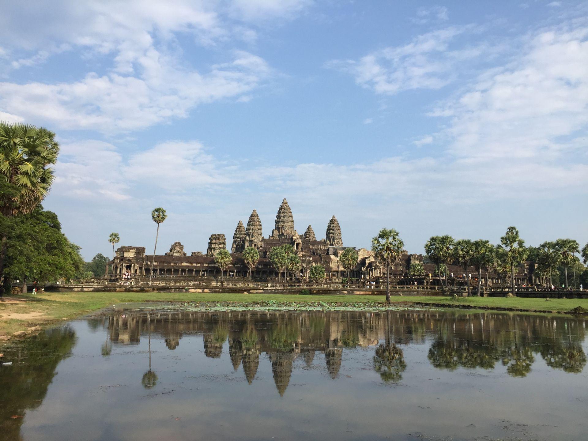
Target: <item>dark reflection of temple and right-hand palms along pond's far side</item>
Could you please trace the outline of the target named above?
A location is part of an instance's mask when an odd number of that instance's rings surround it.
[[[508,315],[493,312],[152,312],[151,334],[178,347],[183,335],[202,334],[206,357],[220,358],[228,342],[235,370],[242,366],[251,384],[265,353],[280,395],[300,358],[310,366],[315,353],[325,357],[326,373],[339,375],[346,348],[375,347],[374,369],[386,382],[399,382],[407,369],[402,346],[428,344],[427,358],[437,369],[494,369],[525,376],[537,355],[547,366],[581,372],[585,322],[569,317]],[[148,333],[148,313],[116,313],[108,320],[109,337],[136,344]],[[379,346],[378,343],[382,342]],[[376,348],[377,346],[377,348]]]

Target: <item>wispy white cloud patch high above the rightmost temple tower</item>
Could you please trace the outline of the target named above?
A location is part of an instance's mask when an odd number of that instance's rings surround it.
[[[355,77],[376,93],[394,95],[410,89],[439,89],[455,77],[455,64],[482,54],[482,46],[451,50],[456,36],[472,26],[452,26],[419,35],[405,46],[390,46],[359,60],[335,60],[326,67]]]

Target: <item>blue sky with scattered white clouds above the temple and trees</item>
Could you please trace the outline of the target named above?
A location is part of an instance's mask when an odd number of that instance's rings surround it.
[[[588,240],[588,4],[5,2],[0,119],[62,145],[44,206],[85,258],[296,228]]]

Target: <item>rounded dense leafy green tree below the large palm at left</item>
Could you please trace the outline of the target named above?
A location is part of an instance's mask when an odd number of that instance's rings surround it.
[[[46,283],[82,275],[80,248],[61,232],[55,213],[39,206],[31,213],[14,216],[9,223],[6,278]]]

